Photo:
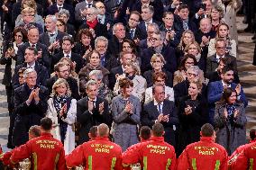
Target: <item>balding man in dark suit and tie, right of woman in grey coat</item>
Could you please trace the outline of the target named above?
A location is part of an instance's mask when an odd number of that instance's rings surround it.
[[[153,85],[154,100],[143,107],[142,126],[152,127],[160,122],[164,126],[164,140],[172,146],[176,146],[175,130],[178,125],[178,114],[175,104],[165,99],[164,85]]]

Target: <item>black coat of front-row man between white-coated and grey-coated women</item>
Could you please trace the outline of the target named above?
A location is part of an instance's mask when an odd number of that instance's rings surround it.
[[[102,114],[99,112],[100,103],[104,103],[104,112]],[[96,97],[96,103],[92,113],[88,111],[87,97],[79,100],[77,104],[77,117],[78,123],[80,124],[78,145],[80,145],[89,140],[88,132],[91,127],[99,125],[100,123],[105,123],[111,127],[112,115],[109,112],[107,101],[98,96]]]

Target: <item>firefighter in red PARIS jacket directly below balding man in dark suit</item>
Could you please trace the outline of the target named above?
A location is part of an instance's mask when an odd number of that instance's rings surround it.
[[[163,135],[164,128],[162,124],[154,124],[150,141],[138,144],[135,149],[123,153],[123,166],[139,162],[142,168],[146,170],[175,170],[175,149],[164,141]]]

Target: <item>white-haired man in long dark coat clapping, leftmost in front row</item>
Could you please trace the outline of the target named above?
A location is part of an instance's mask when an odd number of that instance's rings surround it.
[[[25,84],[14,91],[14,146],[18,147],[29,139],[28,131],[32,125],[40,125],[48,108],[48,90],[37,85],[36,71],[27,68],[24,71]]]

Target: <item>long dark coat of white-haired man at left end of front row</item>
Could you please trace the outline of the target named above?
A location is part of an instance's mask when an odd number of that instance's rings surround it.
[[[40,88],[39,103],[32,100],[30,105],[27,105],[31,90],[25,84],[15,89],[14,91],[14,112],[17,114],[14,123],[14,146],[20,146],[28,141],[28,131],[32,125],[40,125],[41,118],[45,116],[48,108],[48,90],[46,87],[37,85]]]

